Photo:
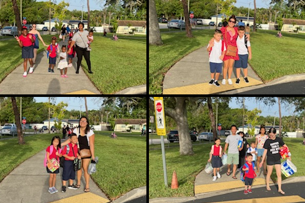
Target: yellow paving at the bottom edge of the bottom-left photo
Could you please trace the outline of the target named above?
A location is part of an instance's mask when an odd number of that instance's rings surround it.
[[[91,192],[86,192],[83,194],[78,194],[72,197],[60,199],[57,201],[52,201],[50,203],[85,203],[85,202],[90,202],[90,203],[106,203],[109,202],[108,199],[105,199],[99,195],[96,195]]]

